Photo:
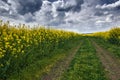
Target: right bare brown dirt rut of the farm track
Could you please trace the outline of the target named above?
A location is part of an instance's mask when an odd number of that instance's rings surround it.
[[[100,58],[105,70],[107,70],[106,76],[110,80],[120,80],[120,63],[114,58],[107,50],[100,47],[96,42],[93,42],[97,55]]]

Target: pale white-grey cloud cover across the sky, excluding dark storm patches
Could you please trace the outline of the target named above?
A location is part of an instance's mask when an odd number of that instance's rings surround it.
[[[28,12],[24,15],[21,15],[18,11],[22,9],[19,0],[8,0],[8,3],[11,5],[0,1],[0,13],[2,13],[2,10],[8,11],[3,13],[4,16],[0,14],[0,18],[3,20],[10,20],[14,23],[27,23],[30,25],[41,24],[53,26],[56,29],[65,29],[75,32],[99,31],[114,25],[120,25],[120,16],[117,12],[102,10],[103,8],[117,7],[120,0],[113,4],[105,4],[103,6],[96,6],[96,4],[98,4],[97,0],[84,0],[84,3],[82,5],[80,4],[80,11],[57,10],[58,8],[66,9],[69,6],[78,5],[76,1],[77,0],[66,0],[66,2],[64,2],[64,0],[58,0],[50,2],[48,0],[43,0],[43,4],[39,10],[34,13]]]

